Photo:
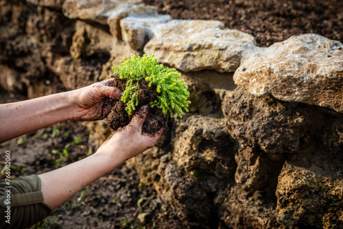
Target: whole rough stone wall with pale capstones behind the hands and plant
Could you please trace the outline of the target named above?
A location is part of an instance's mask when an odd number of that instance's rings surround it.
[[[130,53],[182,73],[189,114],[127,162],[180,219],[228,228],[343,227],[343,45],[266,48],[219,21],[140,0],[0,0],[0,84],[29,98],[112,75]],[[99,145],[104,121],[88,123]]]

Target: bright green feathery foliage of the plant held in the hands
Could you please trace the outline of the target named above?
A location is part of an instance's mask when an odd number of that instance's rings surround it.
[[[138,106],[140,80],[149,82],[150,87],[152,84],[156,85],[157,99],[150,103],[151,107],[160,108],[164,115],[169,113],[170,117],[173,117],[174,112],[178,113],[178,117],[182,117],[182,110],[188,112],[187,108],[191,102],[187,100],[187,84],[180,80],[181,74],[178,71],[158,64],[154,54],[144,54],[143,57],[131,54],[129,60],[123,58],[119,67],[112,69],[115,70],[114,75],[118,73],[121,80],[127,80],[121,101],[126,104],[129,115],[132,115]]]

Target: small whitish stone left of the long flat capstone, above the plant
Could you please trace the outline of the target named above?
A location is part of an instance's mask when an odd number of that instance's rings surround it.
[[[121,36],[132,49],[141,50],[152,38],[152,29],[170,20],[170,15],[159,15],[152,5],[134,5],[128,17],[120,21]]]

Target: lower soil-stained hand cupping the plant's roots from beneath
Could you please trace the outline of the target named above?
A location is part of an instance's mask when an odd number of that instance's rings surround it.
[[[163,130],[160,130],[155,136],[142,134],[142,125],[147,117],[147,112],[147,106],[143,106],[138,114],[134,115],[131,122],[105,141],[97,149],[97,152],[100,154],[116,154],[113,155],[115,158],[120,158],[122,162],[125,162],[153,147],[158,138],[161,137]]]

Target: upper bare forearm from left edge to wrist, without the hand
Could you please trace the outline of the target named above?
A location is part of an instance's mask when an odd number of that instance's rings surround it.
[[[0,143],[72,117],[69,92],[0,104]]]

